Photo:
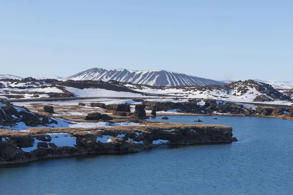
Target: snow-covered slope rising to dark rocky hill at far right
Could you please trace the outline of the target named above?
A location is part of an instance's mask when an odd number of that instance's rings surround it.
[[[258,102],[291,105],[292,99],[266,83],[254,80],[232,82],[225,86],[154,87],[126,84],[129,89],[185,98],[217,99],[233,102]]]

